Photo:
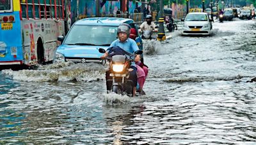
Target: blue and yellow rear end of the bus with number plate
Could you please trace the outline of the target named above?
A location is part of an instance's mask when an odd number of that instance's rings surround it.
[[[0,0],[0,67],[22,64],[20,2]]]

